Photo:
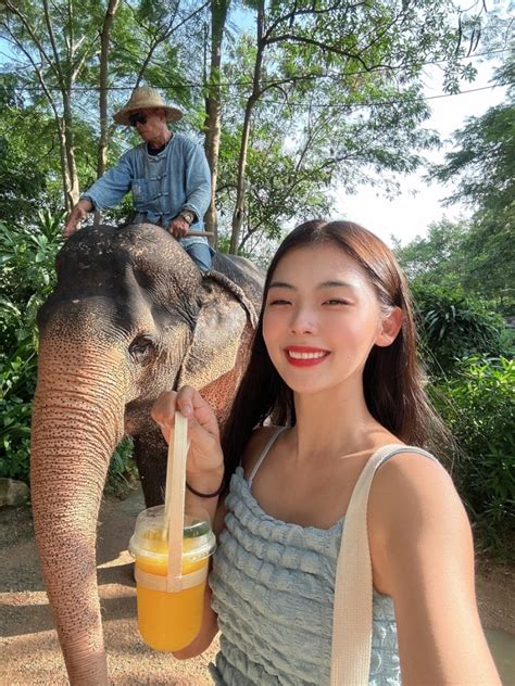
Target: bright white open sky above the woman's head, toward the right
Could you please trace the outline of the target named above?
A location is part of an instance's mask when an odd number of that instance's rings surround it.
[[[445,152],[453,149],[450,141],[452,132],[463,127],[466,117],[481,116],[489,107],[503,102],[506,89],[491,88],[489,82],[493,67],[498,64],[493,61],[474,60],[474,66],[478,69],[476,80],[462,85],[463,91],[488,87],[487,90],[463,92],[430,101],[432,115],[425,126],[436,129],[444,144],[438,151],[426,153],[428,160],[443,162]],[[443,92],[436,72],[428,74],[426,84],[426,97],[439,96]],[[444,216],[449,219],[469,216],[470,211],[461,204],[443,206],[442,200],[451,194],[452,187],[436,182],[428,183],[423,176],[424,169],[420,169],[416,174],[401,177],[403,191],[393,200],[382,196],[377,189],[372,187],[364,187],[354,195],[337,191],[334,218],[352,219],[362,224],[389,245],[392,244],[392,236],[405,245],[417,236],[426,236],[429,224]]]

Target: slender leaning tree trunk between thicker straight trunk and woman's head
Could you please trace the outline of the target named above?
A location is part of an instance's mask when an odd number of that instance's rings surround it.
[[[261,68],[263,64],[263,50],[262,42],[263,25],[264,25],[264,0],[260,0],[258,5],[258,52],[255,55],[254,64],[254,77],[252,94],[247,101],[247,107],[243,119],[243,130],[241,132],[241,145],[240,155],[238,160],[238,180],[236,182],[236,206],[233,214],[233,232],[230,234],[230,247],[229,253],[236,255],[238,253],[241,226],[243,225],[244,217],[244,183],[246,183],[246,167],[247,167],[247,152],[249,149],[250,138],[250,123],[252,116],[252,110],[255,102],[260,97],[260,81],[261,81]]]

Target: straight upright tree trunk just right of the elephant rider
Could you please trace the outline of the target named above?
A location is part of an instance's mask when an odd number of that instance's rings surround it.
[[[218,221],[216,214],[216,183],[218,178],[218,151],[221,135],[221,87],[219,68],[222,64],[222,40],[225,21],[230,0],[212,0],[211,2],[211,66],[205,99],[205,155],[211,169],[211,204],[205,214],[205,228],[213,231],[213,245],[218,239]]]

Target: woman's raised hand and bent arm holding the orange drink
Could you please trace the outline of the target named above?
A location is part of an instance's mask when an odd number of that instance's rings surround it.
[[[200,493],[214,493],[224,478],[224,456],[219,444],[216,418],[209,404],[198,391],[184,386],[178,393],[162,393],[152,407],[152,418],[159,423],[166,442],[175,423],[175,411],[179,409],[188,418],[190,448],[186,467],[186,480]],[[208,510],[215,534],[218,534],[225,518],[224,503],[218,496],[203,498],[187,491],[187,507],[200,506]],[[211,588],[205,586],[202,625],[197,638],[186,648],[174,652],[179,660],[193,658],[203,652],[218,632],[216,614],[211,608]]]

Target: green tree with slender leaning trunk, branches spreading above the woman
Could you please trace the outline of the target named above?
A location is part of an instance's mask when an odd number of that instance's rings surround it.
[[[427,61],[444,55],[450,90],[460,76],[474,75],[460,65],[464,48],[448,2],[248,4],[255,13],[255,37],[242,36],[226,71],[241,84],[230,104],[242,110],[231,252],[244,240],[249,151],[261,143],[254,130],[262,130],[267,109],[288,130],[281,138],[285,153],[298,143],[299,158],[310,138],[309,152],[326,172],[324,188],[339,181],[352,190],[360,173],[367,176],[370,168],[413,170],[420,162],[414,150],[436,142],[418,128],[429,116],[420,98]]]

